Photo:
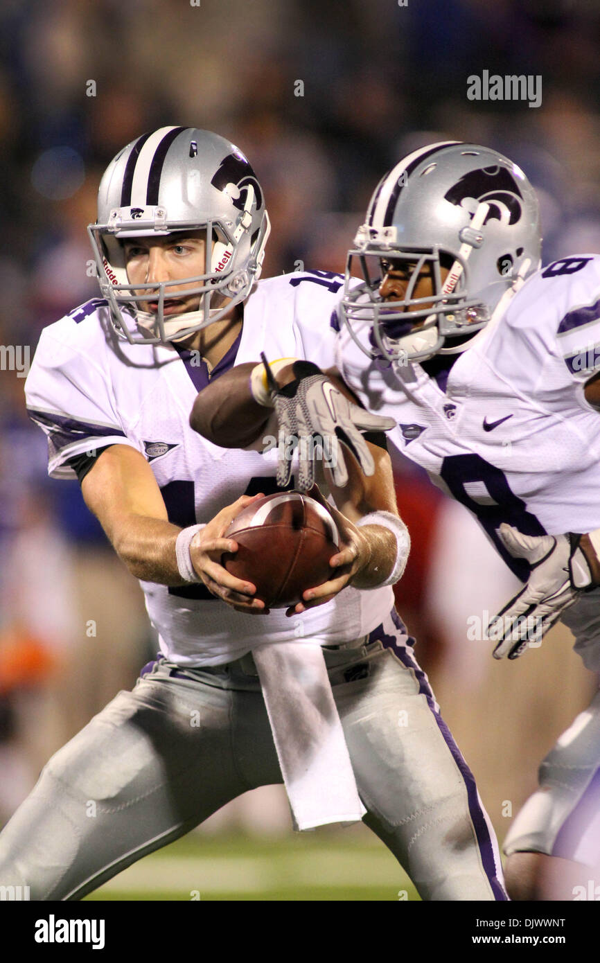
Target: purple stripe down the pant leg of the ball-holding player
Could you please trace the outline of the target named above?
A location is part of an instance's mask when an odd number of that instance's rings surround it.
[[[394,616],[396,617],[394,618]],[[394,624],[397,626],[397,628],[399,627],[398,623],[400,623],[400,626],[402,627],[400,631],[403,631],[404,630],[403,623],[400,620],[400,617],[394,611],[392,612],[392,619],[394,621]],[[375,631],[378,632],[377,629]],[[400,660],[400,662],[403,665],[405,665],[406,668],[412,669],[415,674],[415,678],[419,683],[419,692],[420,694],[425,695],[428,705],[430,707],[430,710],[433,713],[433,716],[435,717],[437,727],[441,732],[442,736],[444,737],[444,740],[448,748],[452,752],[453,758],[457,764],[458,771],[460,772],[460,775],[464,780],[464,784],[467,789],[469,813],[471,814],[471,819],[473,820],[473,825],[475,826],[477,841],[480,847],[480,852],[482,854],[483,869],[485,871],[487,878],[489,879],[489,883],[492,888],[494,897],[497,900],[507,900],[508,899],[507,894],[505,893],[504,887],[502,886],[502,883],[500,882],[496,874],[497,870],[496,870],[496,860],[494,857],[494,849],[489,836],[487,823],[483,816],[483,810],[478,798],[475,778],[470,768],[467,766],[464,759],[462,758],[462,755],[457,746],[457,743],[452,738],[452,734],[448,726],[446,725],[443,718],[439,715],[439,713],[436,710],[435,699],[433,698],[433,692],[430,689],[430,684],[429,684],[427,675],[425,674],[423,669],[421,669],[419,665],[415,662],[415,659],[412,656],[412,653],[407,648],[405,648],[404,645],[399,645],[396,638],[394,638],[393,636],[386,635],[385,633],[382,633],[381,641],[383,643],[384,648],[390,648],[394,652],[396,657]]]

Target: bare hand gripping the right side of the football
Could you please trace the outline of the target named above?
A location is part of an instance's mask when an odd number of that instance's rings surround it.
[[[306,612],[307,609],[314,609],[316,606],[330,602],[343,588],[352,585],[354,576],[361,572],[371,560],[371,546],[367,536],[352,525],[346,515],[326,501],[317,485],[309,494],[327,509],[337,526],[340,535],[339,551],[329,559],[329,564],[336,569],[336,574],[320,586],[307,588],[302,594],[303,601],[290,606],[286,611],[288,616],[300,615],[300,612]]]

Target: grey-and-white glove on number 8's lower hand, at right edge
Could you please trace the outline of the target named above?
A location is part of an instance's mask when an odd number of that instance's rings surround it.
[[[503,522],[498,529],[509,553],[532,566],[527,585],[491,620],[487,638],[493,656],[516,659],[529,644],[538,645],[580,592],[595,585],[580,548],[581,535],[524,535]]]

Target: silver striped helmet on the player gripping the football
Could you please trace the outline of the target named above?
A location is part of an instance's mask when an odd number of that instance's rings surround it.
[[[131,344],[158,344],[219,321],[260,276],[270,229],[261,187],[233,143],[195,127],[161,127],[127,144],[102,177],[98,220],[88,227],[118,334]],[[197,230],[205,231],[204,273],[129,283],[124,239]],[[198,296],[198,309],[166,318],[169,301],[189,284],[185,295]],[[156,313],[141,306],[150,291]]]

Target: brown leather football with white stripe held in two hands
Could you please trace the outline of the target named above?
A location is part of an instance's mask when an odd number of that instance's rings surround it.
[[[337,526],[326,508],[299,491],[267,495],[244,508],[224,534],[237,552],[222,564],[238,579],[256,586],[267,608],[301,601],[302,592],[332,575],[329,559],[339,551]]]

